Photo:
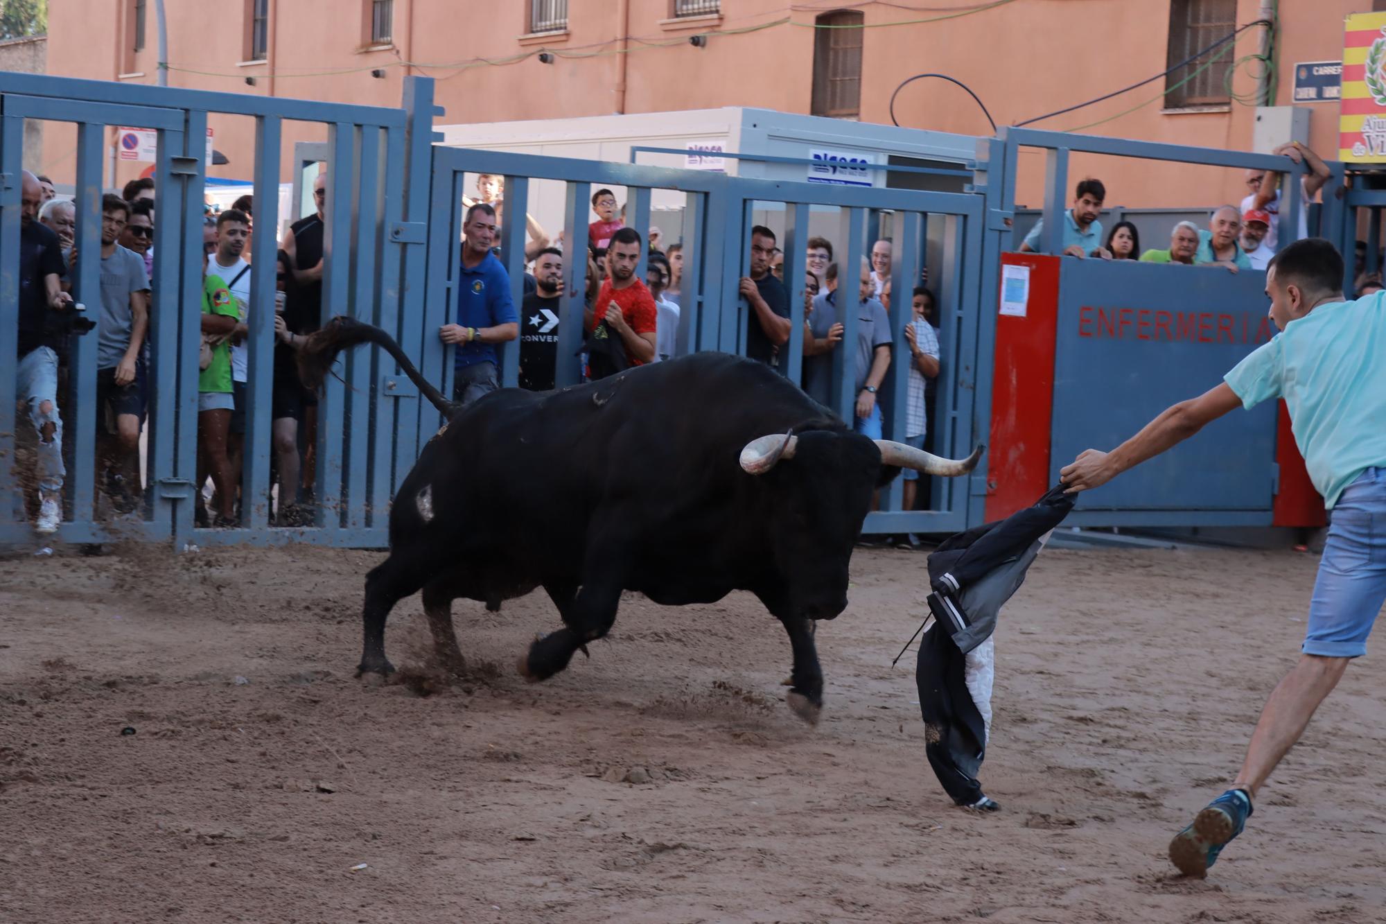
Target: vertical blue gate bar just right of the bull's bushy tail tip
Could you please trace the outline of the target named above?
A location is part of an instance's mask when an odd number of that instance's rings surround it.
[[[376,259],[381,240],[381,130],[363,125],[356,130],[356,243],[352,266],[351,314],[376,323]],[[377,393],[371,372],[376,350],[356,350],[346,366],[346,527],[366,529],[370,479],[370,418]]]

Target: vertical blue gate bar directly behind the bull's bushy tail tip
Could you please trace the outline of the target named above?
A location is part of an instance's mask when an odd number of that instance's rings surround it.
[[[355,125],[338,122],[327,128],[331,155],[327,164],[327,211],[323,222],[323,322],[333,314],[345,314],[351,304],[348,286],[351,286],[351,183],[355,135]],[[317,405],[319,524],[331,527],[341,527],[344,519],[344,393],[342,380],[328,376]]]

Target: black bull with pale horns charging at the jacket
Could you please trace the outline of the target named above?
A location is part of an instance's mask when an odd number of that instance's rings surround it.
[[[901,465],[963,474],[981,454],[954,462],[877,444],[766,366],[715,352],[560,391],[505,388],[462,409],[383,330],[337,318],[299,354],[304,382],[316,387],[362,343],[387,350],[448,423],[401,484],[389,558],[366,576],[360,673],[394,670],[385,617],[420,590],[438,653],[459,669],[453,599],[499,609],[543,587],[563,628],[520,658],[529,680],[606,635],[625,590],[665,606],[746,590],[784,624],[789,702],[816,720],[811,620],[847,606],[872,491]]]

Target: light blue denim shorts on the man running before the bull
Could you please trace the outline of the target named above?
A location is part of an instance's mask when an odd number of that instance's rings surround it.
[[[1386,468],[1372,468],[1333,505],[1308,605],[1303,652],[1360,658],[1386,604]]]

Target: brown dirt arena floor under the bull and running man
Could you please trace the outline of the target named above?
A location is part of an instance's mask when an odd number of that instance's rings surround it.
[[[511,666],[546,598],[459,602],[450,685],[414,598],[387,631],[410,680],[363,685],[380,558],[0,561],[0,920],[1386,921],[1379,655],[1211,878],[1164,859],[1295,660],[1311,555],[1044,552],[998,633],[992,816],[944,796],[890,667],[920,554],[857,554],[816,728],[746,595],[632,598],[541,685]]]

